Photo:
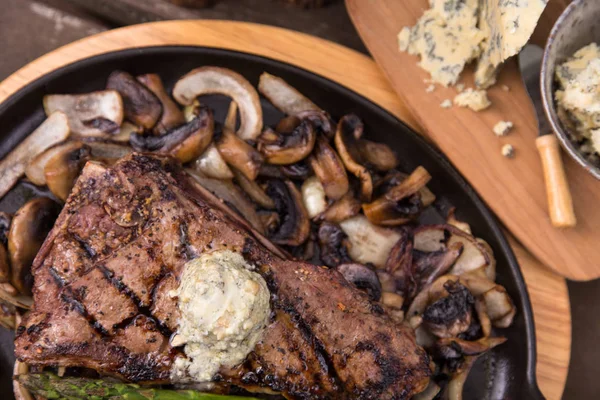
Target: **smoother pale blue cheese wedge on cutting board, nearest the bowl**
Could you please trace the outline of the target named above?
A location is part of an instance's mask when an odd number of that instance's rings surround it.
[[[484,32],[483,52],[475,71],[475,84],[496,83],[498,67],[517,54],[533,34],[548,0],[483,0],[479,28]]]

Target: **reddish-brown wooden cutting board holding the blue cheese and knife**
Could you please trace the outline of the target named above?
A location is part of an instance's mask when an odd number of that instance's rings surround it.
[[[547,37],[567,0],[552,0],[534,39]],[[498,84],[488,91],[492,107],[476,113],[469,109],[443,109],[456,89],[438,86],[426,93],[429,74],[417,65],[418,57],[398,51],[396,35],[412,26],[428,7],[428,0],[346,0],[348,13],[367,48],[402,97],[427,135],[477,189],[508,229],[544,264],[573,280],[600,277],[600,182],[563,154],[578,224],[554,228],[548,217],[542,167],[535,147],[537,123],[516,60],[501,70]],[[543,45],[543,43],[541,43]],[[473,86],[471,71],[462,82]],[[510,88],[502,90],[502,85]],[[492,127],[512,121],[514,129],[503,138]],[[514,159],[500,153],[514,146]]]

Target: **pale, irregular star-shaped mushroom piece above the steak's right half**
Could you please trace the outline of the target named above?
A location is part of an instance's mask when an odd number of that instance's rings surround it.
[[[348,253],[355,262],[371,263],[382,268],[400,239],[400,234],[391,229],[373,225],[364,215],[357,215],[340,222],[340,227],[350,241]]]

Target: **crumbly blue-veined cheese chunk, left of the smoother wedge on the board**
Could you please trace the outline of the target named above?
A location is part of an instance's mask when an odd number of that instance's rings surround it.
[[[419,55],[419,65],[444,86],[458,81],[466,64],[477,58],[484,39],[477,28],[478,0],[431,0],[412,28],[398,34],[400,50]]]

